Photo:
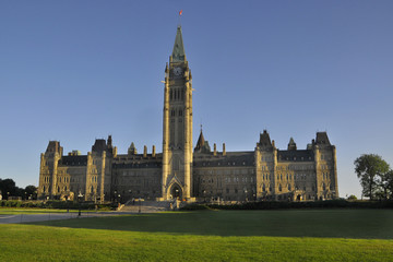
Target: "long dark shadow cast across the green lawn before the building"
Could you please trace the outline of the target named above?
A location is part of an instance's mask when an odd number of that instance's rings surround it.
[[[34,224],[181,235],[393,239],[392,210],[168,212]]]

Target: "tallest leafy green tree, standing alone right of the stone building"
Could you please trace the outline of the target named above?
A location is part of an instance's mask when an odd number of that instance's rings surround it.
[[[373,200],[376,194],[380,194],[383,177],[389,171],[389,164],[381,156],[369,154],[356,158],[355,172],[360,180],[362,194]]]

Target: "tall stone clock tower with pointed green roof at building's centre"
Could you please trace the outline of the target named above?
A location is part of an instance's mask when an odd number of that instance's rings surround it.
[[[192,195],[192,76],[179,25],[165,68],[163,200]]]

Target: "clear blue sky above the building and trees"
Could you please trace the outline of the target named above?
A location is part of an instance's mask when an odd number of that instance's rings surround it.
[[[263,129],[282,150],[327,131],[342,196],[360,195],[356,157],[393,165],[393,1],[26,0],[0,2],[0,178],[37,186],[49,140],[160,152],[181,9],[194,143],[201,122],[227,151]]]

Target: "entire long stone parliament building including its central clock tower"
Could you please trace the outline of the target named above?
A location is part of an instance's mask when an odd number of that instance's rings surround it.
[[[39,199],[121,201],[312,201],[338,198],[336,148],[326,132],[317,132],[306,150],[290,138],[278,150],[266,130],[252,151],[211,148],[202,130],[192,143],[192,75],[181,26],[165,68],[163,152],[138,153],[131,143],[118,154],[111,135],[96,140],[87,155],[63,154],[49,141],[40,155]]]

